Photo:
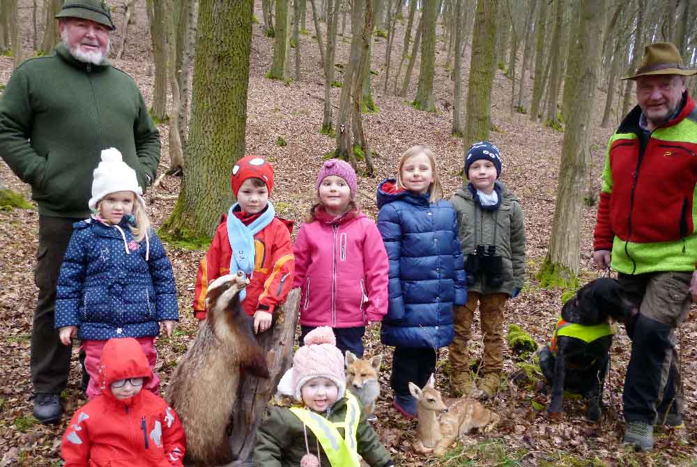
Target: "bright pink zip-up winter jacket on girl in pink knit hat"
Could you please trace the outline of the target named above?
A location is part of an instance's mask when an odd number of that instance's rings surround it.
[[[320,213],[324,214],[324,213]],[[300,324],[353,328],[388,312],[388,254],[375,223],[351,212],[302,224],[293,245]]]

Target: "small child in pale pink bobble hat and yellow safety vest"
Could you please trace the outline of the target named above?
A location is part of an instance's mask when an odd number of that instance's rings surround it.
[[[254,465],[358,467],[361,458],[372,467],[394,465],[358,400],[346,392],[344,356],[332,328],[305,336],[278,392],[294,404],[269,406],[256,434]]]

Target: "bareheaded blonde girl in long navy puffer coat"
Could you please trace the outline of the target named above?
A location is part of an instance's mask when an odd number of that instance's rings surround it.
[[[399,159],[397,180],[378,185],[378,230],[390,260],[388,314],[381,341],[395,346],[390,385],[394,405],[416,416],[411,381],[422,388],[436,369],[436,349],[453,337],[453,305],[467,298],[457,213],[443,199],[436,155],[413,146]]]

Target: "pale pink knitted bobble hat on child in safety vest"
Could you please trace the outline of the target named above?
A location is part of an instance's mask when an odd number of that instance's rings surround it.
[[[278,383],[278,392],[302,401],[302,385],[312,378],[327,378],[337,385],[337,400],[346,392],[344,355],[337,349],[337,339],[329,326],[321,326],[308,332],[305,345],[293,355],[293,367]]]

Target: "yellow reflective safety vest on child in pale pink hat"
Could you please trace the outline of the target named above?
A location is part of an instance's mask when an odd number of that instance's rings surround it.
[[[360,406],[351,392],[346,392],[346,418],[343,422],[331,422],[319,413],[302,407],[290,410],[314,434],[332,464],[332,467],[359,467],[358,442],[355,435],[360,421]],[[342,438],[337,428],[343,428],[346,438]],[[317,453],[319,456],[319,452]]]

